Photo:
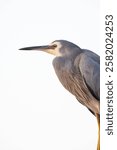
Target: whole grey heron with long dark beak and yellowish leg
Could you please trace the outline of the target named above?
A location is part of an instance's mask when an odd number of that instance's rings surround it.
[[[100,150],[100,56],[66,40],[19,50],[44,51],[55,56],[53,67],[61,84],[97,118]]]

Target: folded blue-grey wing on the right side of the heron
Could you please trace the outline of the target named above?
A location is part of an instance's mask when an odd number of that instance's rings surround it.
[[[79,56],[77,57],[74,63],[75,66],[79,66],[79,70],[91,94],[97,100],[100,100],[100,57],[88,50],[84,50],[80,54],[80,60]],[[78,62],[77,59],[79,60]]]

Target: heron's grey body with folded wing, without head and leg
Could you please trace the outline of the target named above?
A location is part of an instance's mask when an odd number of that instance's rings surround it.
[[[74,48],[74,49],[73,49]],[[100,114],[100,58],[97,54],[72,46],[71,53],[53,60],[62,85],[94,114]]]

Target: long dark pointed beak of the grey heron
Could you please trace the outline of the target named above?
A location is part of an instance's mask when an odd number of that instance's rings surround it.
[[[49,45],[45,45],[45,46],[31,46],[31,47],[23,47],[23,48],[20,48],[19,50],[40,50],[40,51],[46,51],[46,50],[49,50],[49,49],[52,49],[51,46]]]

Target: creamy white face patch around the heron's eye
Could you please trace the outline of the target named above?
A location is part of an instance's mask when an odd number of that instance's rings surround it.
[[[61,45],[60,42],[53,42],[50,45],[57,45],[57,47],[55,47],[55,49],[49,49],[49,50],[47,50],[46,51],[47,53],[53,54],[55,56],[62,56],[62,54],[59,51],[60,48],[62,47],[62,45]]]

